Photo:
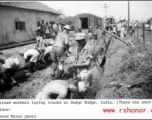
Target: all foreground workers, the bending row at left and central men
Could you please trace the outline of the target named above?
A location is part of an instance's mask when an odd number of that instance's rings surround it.
[[[42,24],[44,21],[42,21]],[[38,37],[45,37],[43,32],[43,25],[40,26]],[[37,71],[39,64],[44,64],[46,67],[51,65],[52,71],[50,75],[52,80],[48,83],[42,91],[38,93],[36,98],[38,99],[65,99],[69,92],[78,91],[85,93],[86,90],[92,84],[93,67],[101,66],[101,60],[96,57],[97,54],[94,51],[97,37],[96,34],[89,35],[89,40],[85,33],[79,32],[75,36],[75,41],[78,44],[77,57],[75,64],[70,65],[70,68],[76,70],[75,83],[68,83],[62,79],[64,71],[64,61],[66,59],[66,53],[72,55],[69,51],[69,32],[71,28],[69,25],[65,25],[63,30],[58,30],[54,43],[50,42],[44,44],[44,46],[36,46],[31,49],[21,50],[19,54],[7,57],[5,54],[0,54],[0,77],[9,81],[12,85],[16,84],[16,80],[13,75],[20,70],[27,70],[30,73]],[[40,33],[40,34],[39,34]],[[100,48],[99,52],[103,52],[104,48]],[[72,73],[71,73],[72,74]]]

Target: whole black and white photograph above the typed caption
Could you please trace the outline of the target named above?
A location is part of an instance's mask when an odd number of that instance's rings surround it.
[[[0,1],[0,99],[152,99],[152,1]]]

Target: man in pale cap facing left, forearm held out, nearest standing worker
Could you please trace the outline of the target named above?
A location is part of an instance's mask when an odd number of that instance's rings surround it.
[[[86,44],[86,34],[84,33],[77,33],[75,40],[78,43],[78,59],[77,64],[73,64],[72,67],[77,68],[77,77],[81,79],[78,82],[79,92],[85,92],[87,88],[91,86],[92,83],[92,51],[89,51],[88,44]],[[86,45],[88,47],[86,47]],[[90,47],[92,47],[90,45]],[[84,54],[85,53],[85,54]]]

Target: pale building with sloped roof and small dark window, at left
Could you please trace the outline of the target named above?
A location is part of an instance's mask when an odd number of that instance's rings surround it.
[[[59,15],[40,2],[0,2],[0,44],[34,39],[42,20],[58,22]]]

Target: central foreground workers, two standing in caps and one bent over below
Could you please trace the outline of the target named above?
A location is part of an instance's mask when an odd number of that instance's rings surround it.
[[[101,67],[101,59],[97,59],[94,53],[94,47],[96,45],[97,37],[96,34],[92,34],[90,39],[87,40],[85,33],[79,31],[75,35],[75,41],[78,44],[77,47],[77,57],[75,64],[71,64],[70,68],[76,70],[76,82],[71,84],[65,80],[62,80],[62,75],[64,72],[64,61],[65,53],[69,51],[69,34],[70,26],[64,26],[63,32],[58,32],[56,40],[52,47],[52,71],[51,76],[54,81],[48,83],[42,91],[38,93],[36,98],[38,99],[49,99],[50,95],[57,95],[57,99],[64,99],[69,96],[69,92],[78,91],[84,93],[92,85],[93,68],[94,66]],[[103,48],[104,49],[104,48]],[[99,49],[98,52],[103,52],[103,49]],[[101,50],[101,51],[100,51]],[[72,74],[72,71],[71,71]],[[56,94],[56,95],[55,95]]]

